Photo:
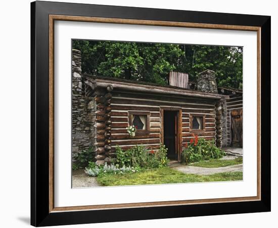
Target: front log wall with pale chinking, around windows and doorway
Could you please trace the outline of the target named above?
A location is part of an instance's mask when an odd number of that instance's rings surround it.
[[[131,94],[113,92],[111,99],[111,146],[112,151],[118,145],[128,149],[136,144],[146,145],[150,149],[157,149],[161,142],[162,108],[182,108],[182,147],[192,138],[190,132],[190,115],[205,115],[205,131],[195,133],[207,140],[215,139],[215,101],[198,100],[186,98],[171,98],[169,96],[154,96],[152,94]],[[150,133],[136,135],[130,138],[126,127],[128,127],[128,111],[150,111]]]

